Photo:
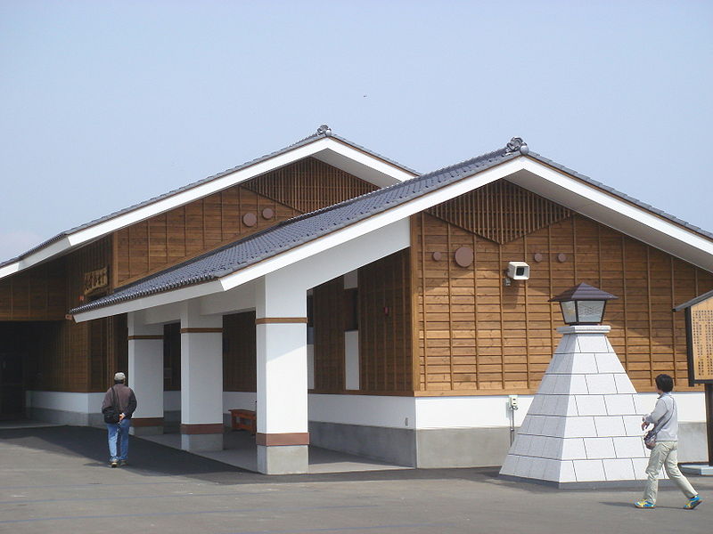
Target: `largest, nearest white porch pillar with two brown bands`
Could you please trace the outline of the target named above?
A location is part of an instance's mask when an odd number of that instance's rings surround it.
[[[258,471],[307,473],[307,298],[293,279],[258,283]]]

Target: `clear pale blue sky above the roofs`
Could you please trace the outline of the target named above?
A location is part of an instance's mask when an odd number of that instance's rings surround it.
[[[0,3],[0,260],[323,123],[531,150],[713,231],[710,2]]]

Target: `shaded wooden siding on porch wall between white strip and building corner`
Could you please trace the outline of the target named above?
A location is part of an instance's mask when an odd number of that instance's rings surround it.
[[[358,270],[361,392],[413,394],[410,253]]]

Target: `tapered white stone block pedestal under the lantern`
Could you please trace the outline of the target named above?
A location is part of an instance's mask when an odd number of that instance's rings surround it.
[[[643,446],[636,391],[607,326],[558,328],[563,334],[500,475],[557,487],[640,485]]]

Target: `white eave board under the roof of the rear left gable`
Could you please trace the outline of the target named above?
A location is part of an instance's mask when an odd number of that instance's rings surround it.
[[[159,198],[155,202],[137,206],[135,209],[129,209],[117,214],[115,217],[100,220],[77,231],[70,231],[61,239],[53,241],[29,255],[20,256],[20,259],[15,262],[0,267],[0,279],[29,269],[29,267],[38,263],[44,263],[55,257],[65,255],[73,248],[101,239],[113,231],[139,223],[178,206],[184,206],[194,200],[208,197],[220,190],[246,182],[260,174],[266,174],[282,166],[290,165],[299,161],[299,159],[310,157],[336,166],[378,187],[386,187],[397,182],[403,182],[417,175],[385,159],[377,158],[365,150],[359,150],[340,139],[333,137],[316,138],[314,142],[307,142],[292,150],[288,148],[275,154],[274,157],[258,160],[252,165],[241,166],[234,172],[219,175],[213,180],[198,183],[194,187]]]

